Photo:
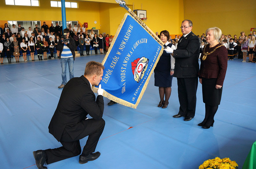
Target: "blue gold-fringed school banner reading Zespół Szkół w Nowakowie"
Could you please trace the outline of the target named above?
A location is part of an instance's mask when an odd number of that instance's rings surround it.
[[[103,96],[136,109],[163,53],[159,40],[126,13],[102,61],[105,67],[100,82]],[[97,93],[98,86],[92,90]]]

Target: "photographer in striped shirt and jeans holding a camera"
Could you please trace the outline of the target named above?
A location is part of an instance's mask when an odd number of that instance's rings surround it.
[[[73,65],[75,60],[75,49],[76,43],[75,40],[69,36],[69,30],[66,28],[63,30],[63,35],[61,40],[59,40],[58,45],[60,46],[60,63],[62,69],[62,83],[58,88],[63,88],[67,83],[67,76],[66,76],[66,68],[68,63],[69,69],[69,80],[74,77],[73,73]]]

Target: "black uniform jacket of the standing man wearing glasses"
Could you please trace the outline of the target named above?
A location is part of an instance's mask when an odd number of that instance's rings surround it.
[[[199,49],[199,39],[193,32],[190,32],[185,38],[180,37],[177,50],[173,51],[173,57],[175,58],[174,77],[190,78],[198,76]]]

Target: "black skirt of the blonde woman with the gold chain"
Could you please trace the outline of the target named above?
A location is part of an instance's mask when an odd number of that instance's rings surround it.
[[[216,81],[217,78],[202,78],[203,102],[210,106],[220,105],[223,86],[219,89],[216,89]]]

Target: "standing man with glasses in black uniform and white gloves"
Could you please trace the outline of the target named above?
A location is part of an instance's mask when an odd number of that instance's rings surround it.
[[[174,77],[177,77],[180,110],[174,118],[185,117],[189,121],[195,116],[196,90],[199,72],[199,48],[200,42],[192,32],[192,22],[184,20],[181,23],[182,36],[178,42],[177,50],[167,47],[167,53],[173,53],[175,58]]]

